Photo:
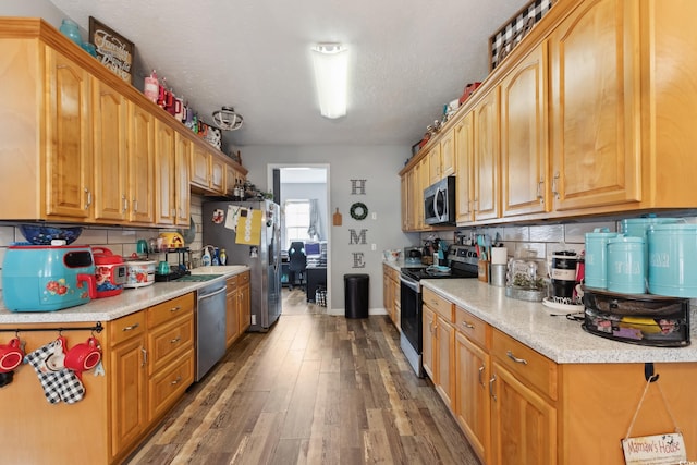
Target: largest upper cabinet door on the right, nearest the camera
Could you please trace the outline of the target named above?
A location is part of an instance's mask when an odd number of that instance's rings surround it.
[[[638,8],[584,2],[550,36],[557,210],[641,200]]]

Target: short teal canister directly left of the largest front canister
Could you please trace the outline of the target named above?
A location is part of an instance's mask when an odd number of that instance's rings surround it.
[[[644,294],[646,273],[641,237],[617,235],[608,241],[608,291]]]

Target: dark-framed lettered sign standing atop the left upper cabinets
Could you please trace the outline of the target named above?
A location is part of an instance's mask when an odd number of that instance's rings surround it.
[[[97,49],[97,59],[115,75],[129,84],[133,84],[134,47],[110,27],[89,16],[89,42]]]

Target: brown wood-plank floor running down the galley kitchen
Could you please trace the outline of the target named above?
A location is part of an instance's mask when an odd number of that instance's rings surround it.
[[[387,316],[284,290],[283,315],[194,384],[131,464],[478,464]]]

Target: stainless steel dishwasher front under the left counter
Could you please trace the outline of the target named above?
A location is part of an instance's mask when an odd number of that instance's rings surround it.
[[[225,354],[225,281],[197,291],[196,381]]]

